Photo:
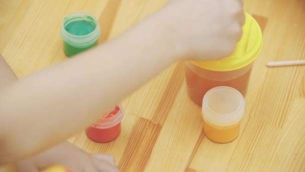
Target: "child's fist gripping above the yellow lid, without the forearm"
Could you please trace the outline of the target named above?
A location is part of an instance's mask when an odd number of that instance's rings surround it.
[[[160,14],[169,26],[174,50],[184,59],[228,56],[242,35],[241,0],[173,0]]]

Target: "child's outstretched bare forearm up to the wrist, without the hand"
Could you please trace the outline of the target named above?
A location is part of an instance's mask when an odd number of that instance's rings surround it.
[[[0,162],[80,131],[175,62],[165,23],[156,19],[162,18],[149,18],[115,40],[0,91]]]

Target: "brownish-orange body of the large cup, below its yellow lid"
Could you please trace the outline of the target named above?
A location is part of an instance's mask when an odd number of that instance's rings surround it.
[[[185,65],[189,96],[195,103],[202,105],[204,95],[209,90],[219,86],[232,87],[245,96],[251,70],[252,64],[241,69],[226,72],[206,70],[193,64]],[[240,72],[244,74],[240,75]]]

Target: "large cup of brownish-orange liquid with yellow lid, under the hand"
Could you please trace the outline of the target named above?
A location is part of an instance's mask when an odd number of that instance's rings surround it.
[[[262,49],[262,33],[259,25],[245,14],[243,35],[234,52],[219,60],[186,61],[185,75],[190,98],[202,105],[204,95],[212,88],[228,86],[245,95],[253,62]]]

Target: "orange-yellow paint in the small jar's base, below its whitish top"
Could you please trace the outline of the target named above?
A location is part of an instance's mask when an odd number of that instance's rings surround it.
[[[240,122],[230,126],[217,126],[204,120],[203,129],[205,135],[217,143],[228,143],[236,139],[240,130]]]

